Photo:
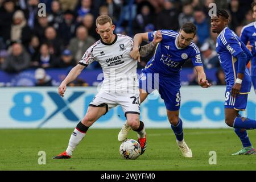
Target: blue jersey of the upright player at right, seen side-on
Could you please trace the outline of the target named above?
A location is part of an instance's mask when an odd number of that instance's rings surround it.
[[[218,35],[216,50],[220,65],[225,73],[226,86],[232,88],[237,78],[237,55],[245,52],[248,57],[251,57],[250,51],[246,48],[241,39],[228,27],[224,28]],[[247,63],[250,59],[247,59]],[[251,89],[251,78],[247,68],[243,76],[242,88],[240,93],[249,93]]]

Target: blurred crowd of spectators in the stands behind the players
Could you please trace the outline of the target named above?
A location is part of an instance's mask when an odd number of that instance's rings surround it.
[[[224,75],[218,63],[215,44],[217,34],[210,31],[209,3],[226,9],[229,28],[240,35],[246,24],[253,22],[250,8],[253,0],[0,0],[0,70],[18,73],[28,68],[39,69],[43,77],[47,68],[72,68],[94,42],[98,15],[109,15],[115,33],[133,37],[139,32],[175,30],[185,22],[197,26],[193,42],[200,48],[205,69],[217,68],[220,81]],[[46,4],[46,16],[38,16],[39,3]],[[143,68],[152,55],[142,58]],[[188,61],[184,67],[191,67]],[[86,69],[100,69],[94,61]],[[196,73],[195,73],[196,74]],[[197,84],[195,74],[191,85]],[[40,77],[40,76],[38,76]],[[40,80],[40,79],[39,79]],[[223,82],[224,80],[224,82]]]

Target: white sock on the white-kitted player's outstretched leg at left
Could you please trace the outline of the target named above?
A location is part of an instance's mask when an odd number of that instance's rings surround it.
[[[68,155],[72,155],[76,146],[81,142],[84,138],[85,133],[81,133],[79,130],[75,129],[69,139],[68,148],[66,150]]]

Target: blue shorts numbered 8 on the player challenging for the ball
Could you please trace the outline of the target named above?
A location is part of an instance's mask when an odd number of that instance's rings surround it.
[[[145,73],[139,77],[139,88],[147,93],[158,90],[161,98],[164,100],[166,109],[176,111],[180,109],[180,78],[163,77],[158,73]],[[157,75],[156,75],[157,74]]]

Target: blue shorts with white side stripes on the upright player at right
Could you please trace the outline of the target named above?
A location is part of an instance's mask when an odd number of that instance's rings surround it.
[[[231,88],[226,88],[225,109],[245,110],[248,94],[238,94],[236,98],[231,96]]]

